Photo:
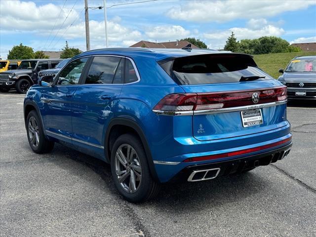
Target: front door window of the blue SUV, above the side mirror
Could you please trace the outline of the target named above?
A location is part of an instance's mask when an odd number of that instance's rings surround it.
[[[67,65],[59,74],[57,85],[76,85],[79,82],[82,70],[88,58],[75,60]]]

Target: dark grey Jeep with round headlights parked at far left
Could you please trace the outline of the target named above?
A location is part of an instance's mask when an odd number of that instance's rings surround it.
[[[26,93],[29,87],[38,81],[38,73],[44,69],[54,68],[62,59],[22,60],[16,70],[0,73],[0,90],[15,88],[18,93]]]

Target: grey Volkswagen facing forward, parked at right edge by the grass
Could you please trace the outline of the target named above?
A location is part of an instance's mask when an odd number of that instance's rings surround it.
[[[279,73],[289,100],[316,100],[316,56],[295,57]]]

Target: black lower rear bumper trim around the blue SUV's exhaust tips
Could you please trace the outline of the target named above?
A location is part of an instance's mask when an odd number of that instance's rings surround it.
[[[259,155],[248,156],[244,158],[237,158],[228,161],[214,162],[210,164],[190,165],[178,172],[169,182],[181,181],[199,181],[199,177],[194,177],[192,174],[200,170],[215,170],[214,176],[209,176],[208,179],[216,178],[219,176],[227,176],[229,174],[241,173],[246,170],[253,169],[258,166],[268,165],[277,160],[285,158],[292,147],[292,142],[281,148],[265,152]],[[191,177],[192,176],[192,177]]]

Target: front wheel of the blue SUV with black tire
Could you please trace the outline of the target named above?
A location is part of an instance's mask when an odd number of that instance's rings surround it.
[[[30,125],[33,127],[34,133],[32,133],[32,129],[30,128]],[[34,129],[34,127],[36,127],[36,129]],[[43,133],[43,128],[40,123],[40,118],[35,110],[32,110],[28,114],[28,117],[26,119],[26,131],[27,131],[30,147],[35,153],[42,154],[42,153],[48,153],[51,150],[53,150],[54,142],[46,139]],[[37,133],[37,135],[35,134],[35,132]],[[38,139],[37,139],[37,136],[38,136]]]

